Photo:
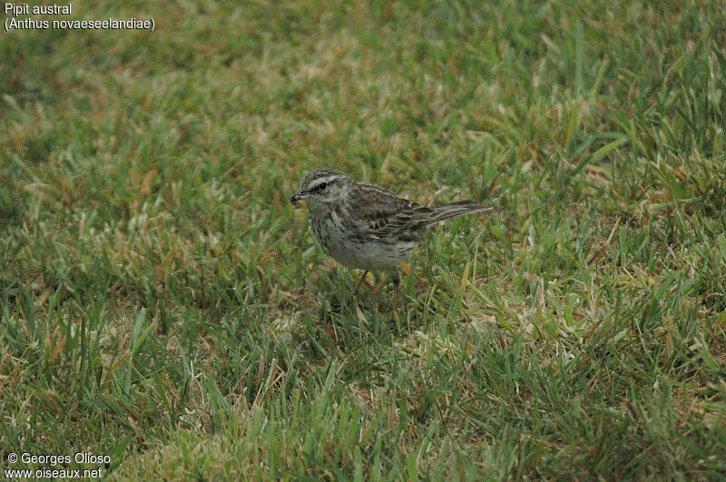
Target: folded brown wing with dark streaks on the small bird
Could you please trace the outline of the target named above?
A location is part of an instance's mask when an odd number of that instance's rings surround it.
[[[420,238],[432,211],[425,206],[397,197],[374,184],[365,185],[355,192],[352,216],[359,226],[366,226],[369,234],[378,237],[405,235]]]

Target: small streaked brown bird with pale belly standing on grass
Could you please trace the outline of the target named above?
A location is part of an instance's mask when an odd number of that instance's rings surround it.
[[[343,266],[363,270],[350,299],[368,271],[385,271],[393,281],[394,311],[398,266],[411,256],[428,226],[492,209],[472,200],[429,208],[329,167],[307,172],[289,200],[293,205],[307,202],[310,231],[326,254]]]

